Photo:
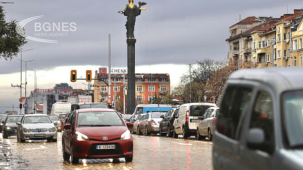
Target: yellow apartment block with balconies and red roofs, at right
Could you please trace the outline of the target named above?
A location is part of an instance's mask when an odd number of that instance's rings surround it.
[[[280,18],[255,17],[259,24],[255,22],[255,26],[226,39],[228,59],[250,60],[258,63],[258,67],[272,67],[272,64],[275,67],[301,66],[302,14],[303,10],[294,10],[293,14],[284,14]]]

